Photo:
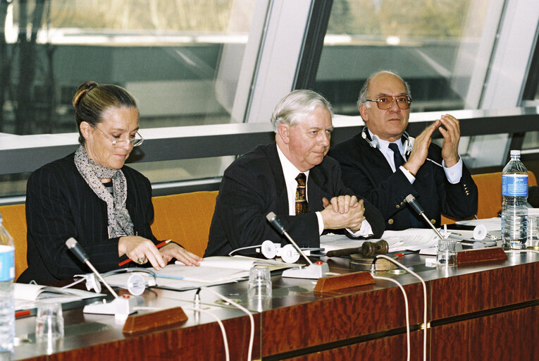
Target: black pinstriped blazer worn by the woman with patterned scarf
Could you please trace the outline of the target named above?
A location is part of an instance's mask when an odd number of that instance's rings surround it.
[[[89,272],[66,247],[70,237],[78,240],[98,271],[118,269],[118,262],[127,258],[118,258],[118,238],[109,239],[108,235],[106,202],[89,188],[73,157],[74,153],[46,164],[28,178],[28,268],[19,282],[51,282]],[[125,202],[134,231],[156,242],[150,228],[154,207],[149,180],[128,166],[122,171],[128,183]]]

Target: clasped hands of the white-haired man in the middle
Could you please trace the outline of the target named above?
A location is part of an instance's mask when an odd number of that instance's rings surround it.
[[[330,201],[323,197],[322,203],[324,209],[320,214],[324,229],[349,228],[352,232],[359,231],[365,220],[363,200],[358,201],[355,195],[340,195]]]

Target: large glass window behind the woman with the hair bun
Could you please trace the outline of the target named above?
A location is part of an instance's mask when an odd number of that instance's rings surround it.
[[[230,114],[238,78],[256,60],[245,54],[247,42],[260,41],[249,34],[255,4],[0,1],[0,135],[77,132],[71,99],[87,80],[131,92],[142,135],[144,128],[243,121],[241,109],[234,120]],[[220,176],[227,162],[230,157],[132,166],[159,183]],[[0,196],[24,195],[27,176],[0,175]]]

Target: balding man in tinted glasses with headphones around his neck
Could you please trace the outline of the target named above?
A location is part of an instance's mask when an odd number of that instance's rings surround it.
[[[440,214],[452,219],[473,216],[477,187],[459,157],[459,121],[442,115],[413,140],[405,131],[410,104],[409,87],[399,75],[380,71],[367,79],[358,100],[366,127],[329,152],[342,167],[342,181],[380,209],[386,229],[428,228],[407,206],[409,194],[436,227]],[[431,144],[436,130],[443,137],[441,148]]]

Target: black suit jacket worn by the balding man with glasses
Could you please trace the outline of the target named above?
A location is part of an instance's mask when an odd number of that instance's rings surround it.
[[[431,144],[428,158],[442,164],[441,150]],[[440,166],[425,161],[416,174],[416,181],[410,184],[402,171],[393,173],[382,152],[371,147],[361,133],[331,147],[329,155],[339,161],[345,185],[380,209],[386,229],[428,227],[404,202],[409,194],[416,197],[435,226],[440,226],[440,214],[466,219],[477,212],[476,183],[464,164],[460,182],[451,184]]]

